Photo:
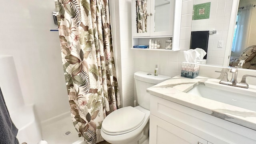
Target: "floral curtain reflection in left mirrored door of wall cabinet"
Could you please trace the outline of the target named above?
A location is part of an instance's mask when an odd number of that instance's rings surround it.
[[[136,1],[137,33],[147,32],[147,0]]]

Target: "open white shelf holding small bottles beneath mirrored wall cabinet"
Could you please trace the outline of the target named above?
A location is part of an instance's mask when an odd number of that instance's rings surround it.
[[[153,43],[151,46],[149,46],[150,40]],[[168,41],[168,43],[166,43],[166,41]],[[132,42],[133,47],[131,49],[133,49],[133,50],[170,51],[170,52],[178,51],[179,48],[172,47],[173,45],[172,44],[170,45],[170,41],[172,41],[172,37],[133,38],[133,42]],[[142,45],[149,46],[149,48],[134,48],[134,46],[142,46]]]

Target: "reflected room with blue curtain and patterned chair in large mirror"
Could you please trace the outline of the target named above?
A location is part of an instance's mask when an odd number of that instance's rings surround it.
[[[256,69],[256,0],[240,0],[234,28],[234,38],[229,66],[238,66],[245,60],[243,68]]]

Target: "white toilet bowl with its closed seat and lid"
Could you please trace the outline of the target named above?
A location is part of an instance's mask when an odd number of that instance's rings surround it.
[[[121,115],[117,116],[118,114]],[[150,111],[141,106],[120,108],[102,122],[101,135],[111,144],[138,144],[138,140],[143,137],[146,140],[148,137],[148,133],[144,134],[144,128],[147,125],[146,129],[149,130],[149,115]]]

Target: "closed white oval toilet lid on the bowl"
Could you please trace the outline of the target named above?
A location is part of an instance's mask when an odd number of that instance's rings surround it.
[[[131,106],[120,108],[109,114],[102,122],[102,130],[108,134],[124,134],[138,128],[145,113]]]

